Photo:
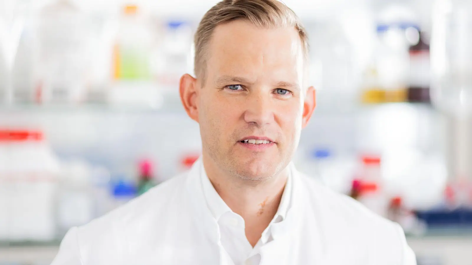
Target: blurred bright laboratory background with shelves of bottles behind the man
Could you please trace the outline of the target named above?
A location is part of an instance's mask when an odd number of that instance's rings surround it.
[[[188,169],[178,98],[216,0],[0,0],[0,264]],[[318,105],[294,163],[402,225],[419,265],[472,264],[472,0],[285,0]],[[353,227],[355,229],[355,227]]]

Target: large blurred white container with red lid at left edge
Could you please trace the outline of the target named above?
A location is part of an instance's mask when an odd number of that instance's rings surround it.
[[[0,240],[53,240],[59,162],[42,132],[0,131]]]

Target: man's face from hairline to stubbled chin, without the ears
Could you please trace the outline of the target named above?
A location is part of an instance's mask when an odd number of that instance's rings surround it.
[[[218,25],[207,49],[196,99],[203,154],[243,179],[280,173],[302,129],[306,88],[298,33],[237,20]]]

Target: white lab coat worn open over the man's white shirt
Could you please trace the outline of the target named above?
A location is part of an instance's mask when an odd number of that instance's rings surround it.
[[[233,265],[205,203],[202,162],[63,239],[52,265]],[[293,167],[293,166],[292,166]],[[260,265],[415,265],[398,224],[292,168],[293,194]]]

